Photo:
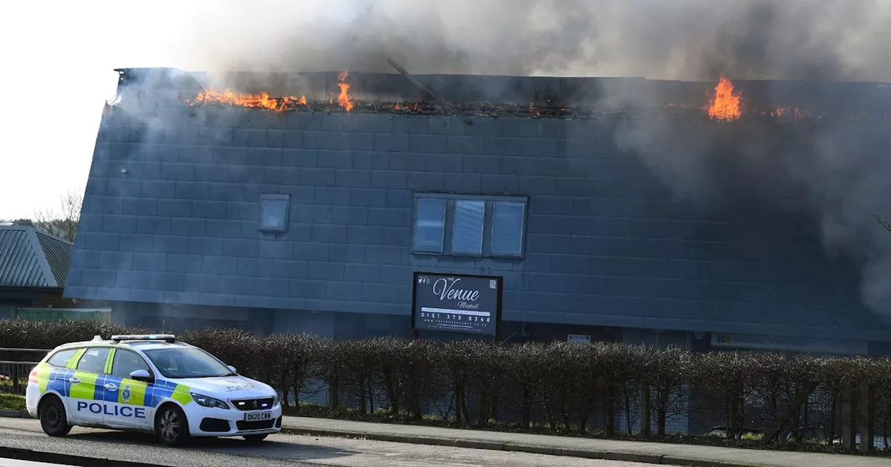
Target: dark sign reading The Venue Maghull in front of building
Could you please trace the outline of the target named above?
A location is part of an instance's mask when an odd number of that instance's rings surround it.
[[[416,331],[498,335],[502,278],[414,273],[412,323]]]

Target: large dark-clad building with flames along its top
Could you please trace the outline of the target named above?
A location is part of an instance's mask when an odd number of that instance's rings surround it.
[[[119,323],[409,335],[427,271],[502,278],[502,340],[891,351],[789,171],[887,151],[891,88],[120,74],[65,289]]]

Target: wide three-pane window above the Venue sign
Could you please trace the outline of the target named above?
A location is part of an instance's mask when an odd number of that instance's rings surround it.
[[[415,193],[412,253],[522,258],[527,197]]]

